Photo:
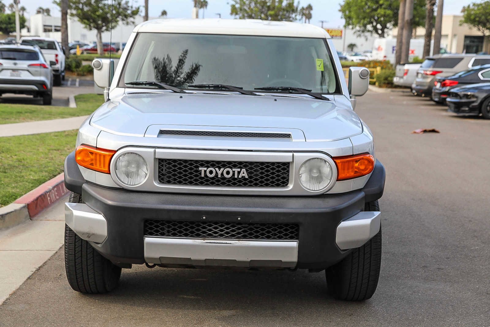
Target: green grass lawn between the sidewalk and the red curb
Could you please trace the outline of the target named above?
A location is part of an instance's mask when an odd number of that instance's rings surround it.
[[[0,138],[0,207],[63,172],[77,130]]]

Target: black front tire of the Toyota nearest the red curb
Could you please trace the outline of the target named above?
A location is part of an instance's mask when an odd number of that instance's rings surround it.
[[[69,201],[83,203],[82,196],[76,193],[70,195]],[[68,283],[80,293],[112,291],[121,278],[121,268],[78,237],[68,225],[65,225],[65,270]]]

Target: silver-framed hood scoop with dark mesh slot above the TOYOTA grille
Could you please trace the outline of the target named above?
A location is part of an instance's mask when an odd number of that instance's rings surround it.
[[[192,139],[234,139],[249,141],[269,139],[269,141],[305,142],[301,129],[244,126],[196,126],[196,125],[150,125],[145,137],[192,138]]]

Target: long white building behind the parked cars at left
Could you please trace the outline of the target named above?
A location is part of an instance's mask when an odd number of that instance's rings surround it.
[[[154,19],[151,18],[150,19]],[[120,24],[112,30],[112,42],[126,42],[134,26],[143,22],[143,16],[134,18],[134,24]],[[61,17],[32,15],[22,29],[22,36],[39,36],[61,41]],[[110,32],[102,33],[102,42],[109,42]],[[97,41],[97,31],[88,30],[76,18],[68,17],[68,42],[92,43]]]

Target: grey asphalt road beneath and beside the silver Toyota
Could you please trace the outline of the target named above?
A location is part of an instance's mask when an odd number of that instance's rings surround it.
[[[0,325],[490,326],[490,121],[402,93],[370,91],[357,112],[387,170],[371,300],[329,298],[323,273],[139,266],[115,292],[81,295],[62,249],[0,306]]]

